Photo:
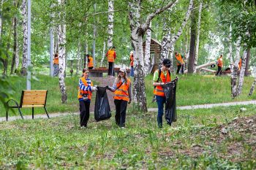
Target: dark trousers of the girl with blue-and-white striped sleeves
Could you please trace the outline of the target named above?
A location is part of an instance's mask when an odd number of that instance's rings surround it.
[[[87,126],[90,117],[90,101],[79,101],[80,126]]]

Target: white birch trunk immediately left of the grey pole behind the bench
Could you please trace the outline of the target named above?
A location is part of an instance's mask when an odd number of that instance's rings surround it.
[[[22,53],[22,69],[21,74],[26,76],[27,74],[27,66],[28,66],[28,5],[27,0],[22,1],[22,15],[23,15],[23,22],[22,22],[22,30],[23,30],[23,53]]]

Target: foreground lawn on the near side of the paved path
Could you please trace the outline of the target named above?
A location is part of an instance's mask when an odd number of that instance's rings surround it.
[[[244,107],[178,110],[162,129],[154,112],[128,112],[124,129],[114,116],[1,122],[0,169],[255,169],[256,107]]]

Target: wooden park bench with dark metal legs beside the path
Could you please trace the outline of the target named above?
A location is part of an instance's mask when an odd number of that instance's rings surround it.
[[[14,99],[7,101],[6,109],[6,120],[8,121],[8,111],[10,108],[17,108],[20,112],[20,116],[23,119],[23,115],[20,111],[20,108],[32,108],[32,119],[34,119],[34,107],[43,107],[45,109],[46,115],[48,118],[48,112],[46,110],[46,100],[47,100],[48,90],[23,90],[20,97],[20,105]],[[10,101],[14,101],[16,106],[10,106]]]

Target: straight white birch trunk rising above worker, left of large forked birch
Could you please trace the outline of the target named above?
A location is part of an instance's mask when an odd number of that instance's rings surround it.
[[[108,49],[113,47],[113,28],[114,28],[114,3],[108,0]]]

